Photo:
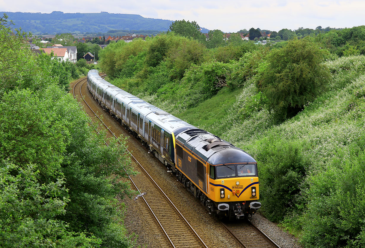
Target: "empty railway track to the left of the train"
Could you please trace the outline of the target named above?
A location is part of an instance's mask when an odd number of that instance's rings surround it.
[[[103,76],[103,75],[101,75]],[[73,94],[76,98],[75,88],[78,84],[84,84],[86,79],[78,81],[73,87]],[[80,96],[87,104],[85,99],[82,97],[81,86],[80,86]],[[80,99],[79,99],[80,100]],[[93,112],[93,111],[92,111]],[[104,124],[104,122],[99,118],[99,116],[93,112],[94,115]],[[105,124],[104,124],[105,125]],[[114,133],[105,125],[105,128],[113,135]],[[127,150],[127,148],[126,148]],[[128,151],[128,150],[127,150]],[[129,151],[128,151],[129,152]],[[130,152],[129,152],[130,153]],[[147,171],[142,167],[138,160],[130,153],[134,162],[134,169],[139,172],[138,175],[129,176],[130,181],[135,186],[135,188],[141,193],[147,191],[147,195],[142,195],[141,198],[145,201],[147,207],[149,208],[151,214],[154,216],[158,225],[160,226],[162,232],[169,241],[171,247],[207,247],[203,240],[195,232],[189,222],[184,218],[176,206],[170,201],[167,195],[162,191],[162,189],[155,183],[152,177],[147,173]]]

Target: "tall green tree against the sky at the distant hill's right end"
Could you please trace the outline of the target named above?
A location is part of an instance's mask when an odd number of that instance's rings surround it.
[[[196,40],[204,41],[205,38],[200,32],[200,26],[195,21],[189,22],[183,20],[176,20],[170,25],[170,31],[175,32],[178,35],[193,38]]]

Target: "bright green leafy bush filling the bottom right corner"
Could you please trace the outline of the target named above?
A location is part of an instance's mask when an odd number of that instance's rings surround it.
[[[302,237],[306,247],[365,245],[365,153],[338,157],[311,177]]]

